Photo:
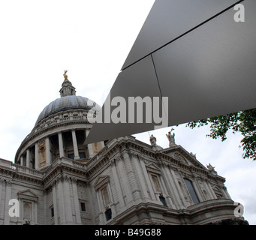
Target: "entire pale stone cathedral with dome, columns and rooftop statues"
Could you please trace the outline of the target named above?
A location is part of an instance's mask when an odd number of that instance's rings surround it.
[[[61,98],[38,116],[14,162],[0,159],[0,224],[245,223],[225,179],[174,134],[169,148],[154,136],[150,145],[134,136],[85,145],[87,113],[101,107],[64,77]]]

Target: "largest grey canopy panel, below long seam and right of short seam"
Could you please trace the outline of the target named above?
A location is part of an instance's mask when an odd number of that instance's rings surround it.
[[[242,4],[245,23],[227,10],[152,55],[169,125],[256,107],[256,1]]]

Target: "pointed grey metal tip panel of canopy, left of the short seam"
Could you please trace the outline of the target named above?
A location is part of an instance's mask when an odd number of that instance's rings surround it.
[[[155,123],[128,123],[128,98],[137,97],[158,97],[161,99],[158,81],[156,79],[154,65],[152,64],[151,56],[144,58],[142,61],[138,62],[137,65],[131,66],[131,68],[122,71],[116,79],[116,82],[113,85],[113,88],[110,91],[110,101],[113,98],[122,96],[126,102],[126,115],[127,123],[113,123],[110,119],[110,123],[98,123],[96,122],[92,130],[89,132],[89,136],[86,138],[85,144],[90,142],[98,142],[106,139],[113,139],[119,136],[125,136],[133,133],[140,133],[142,131],[154,129]],[[106,121],[104,118],[105,106],[107,100],[104,103],[104,106],[101,109],[101,114],[103,115],[103,122]],[[161,101],[160,101],[161,104]],[[112,106],[110,108],[110,113],[113,113],[113,110],[116,107]],[[145,110],[145,109],[144,109]],[[107,112],[107,111],[106,111]],[[137,113],[137,112],[136,112]],[[136,122],[137,114],[134,114],[134,120]],[[143,113],[143,115],[145,115]],[[152,119],[153,120],[153,119]],[[145,122],[143,120],[143,122]]]

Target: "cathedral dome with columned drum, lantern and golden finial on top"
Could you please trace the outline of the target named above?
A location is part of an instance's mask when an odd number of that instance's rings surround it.
[[[44,107],[35,127],[21,142],[15,163],[43,169],[60,157],[87,161],[104,148],[102,141],[89,147],[85,144],[93,124],[88,119],[91,117],[89,110],[93,110],[92,114],[96,116],[101,107],[89,98],[77,96],[66,73],[59,90],[61,98]]]

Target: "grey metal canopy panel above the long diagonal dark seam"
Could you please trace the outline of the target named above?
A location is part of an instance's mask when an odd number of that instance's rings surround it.
[[[122,70],[238,0],[156,0]]]

